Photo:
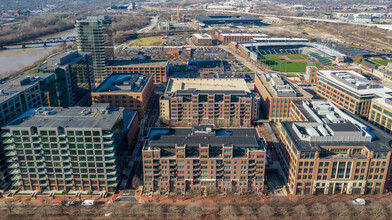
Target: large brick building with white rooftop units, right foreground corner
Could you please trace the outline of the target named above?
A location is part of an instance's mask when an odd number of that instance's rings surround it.
[[[293,101],[279,159],[292,194],[383,193],[392,136],[326,100]]]

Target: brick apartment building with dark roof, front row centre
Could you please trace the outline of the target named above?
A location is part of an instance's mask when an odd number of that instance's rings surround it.
[[[151,128],[145,192],[263,192],[266,148],[255,128]]]

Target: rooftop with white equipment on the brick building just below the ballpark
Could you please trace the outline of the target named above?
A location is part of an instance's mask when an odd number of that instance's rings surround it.
[[[255,77],[261,80],[268,93],[274,98],[313,97],[302,88],[290,84],[278,74],[256,74]]]

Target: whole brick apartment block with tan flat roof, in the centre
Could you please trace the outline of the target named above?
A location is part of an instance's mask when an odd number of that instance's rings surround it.
[[[159,101],[161,118],[175,127],[250,127],[258,111],[254,97],[244,79],[172,78]]]

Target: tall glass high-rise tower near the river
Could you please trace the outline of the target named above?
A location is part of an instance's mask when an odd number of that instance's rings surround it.
[[[76,20],[77,45],[80,52],[93,57],[95,84],[106,79],[106,61],[114,57],[112,21],[109,16],[88,16]]]

